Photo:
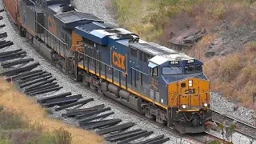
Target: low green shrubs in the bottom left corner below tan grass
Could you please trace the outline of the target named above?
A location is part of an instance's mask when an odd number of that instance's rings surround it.
[[[3,106],[0,106],[3,107]],[[70,144],[71,134],[59,129],[46,133],[22,120],[20,114],[12,110],[0,109],[0,144]]]

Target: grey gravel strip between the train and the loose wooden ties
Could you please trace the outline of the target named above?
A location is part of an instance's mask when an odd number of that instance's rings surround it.
[[[2,0],[0,0],[1,4],[0,7],[2,7]],[[89,2],[89,1],[87,1]],[[90,6],[86,2],[86,6]],[[90,1],[92,3],[96,1]],[[89,3],[90,3],[89,2]],[[100,1],[98,1],[100,2]],[[102,3],[102,2],[100,2]],[[97,3],[96,3],[97,4]],[[103,4],[103,3],[102,3]],[[102,5],[103,6],[103,5]],[[92,6],[91,8],[93,8]],[[96,8],[96,7],[95,7]],[[90,90],[90,88],[87,88],[86,86],[83,86],[81,83],[74,82],[71,78],[69,78],[67,75],[63,74],[60,70],[55,68],[53,65],[50,64],[50,61],[46,60],[41,54],[38,53],[38,51],[34,50],[34,47],[30,45],[29,42],[27,42],[26,38],[22,38],[18,35],[17,27],[14,26],[13,22],[10,22],[8,18],[6,17],[6,12],[0,13],[4,18],[2,21],[0,21],[0,24],[5,23],[6,26],[0,30],[2,33],[3,31],[6,31],[8,34],[7,40],[13,41],[14,46],[10,46],[9,48],[4,48],[0,50],[0,52],[4,52],[7,50],[26,50],[27,56],[26,58],[34,58],[34,62],[39,62],[40,66],[35,68],[34,70],[46,70],[47,72],[50,72],[53,75],[53,78],[56,78],[59,86],[63,86],[61,90],[58,90],[55,93],[47,93],[47,94],[39,94],[36,95],[34,98],[43,98],[46,96],[54,95],[54,94],[62,94],[65,92],[72,92],[72,94],[82,94],[83,99],[87,98],[94,98],[94,102],[89,102],[86,104],[86,106],[83,107],[90,107],[90,106],[96,106],[100,104],[105,104],[106,107],[111,107],[112,111],[114,111],[115,114],[111,115],[108,118],[120,118],[122,119],[122,122],[134,122],[136,123],[135,126],[131,128],[133,129],[143,129],[143,130],[151,130],[154,131],[154,134],[152,134],[150,137],[154,137],[159,134],[165,134],[166,137],[170,138],[170,141],[168,143],[176,143],[179,142],[180,138],[177,134],[174,134],[167,128],[162,128],[162,126],[157,126],[151,122],[148,122],[144,118],[141,118],[141,116],[137,116],[130,112],[130,110],[127,110],[126,107],[120,106],[117,102],[113,102],[109,98],[106,98],[102,96],[101,94],[97,94],[97,92]],[[27,65],[30,65],[33,62],[28,63]],[[20,67],[20,66],[14,66],[14,67]],[[6,70],[6,69],[5,69]],[[81,108],[83,108],[81,107]],[[54,110],[53,110],[54,111]],[[60,110],[58,112],[54,111],[54,114],[51,114],[50,117],[52,118],[58,118],[62,119],[64,122],[77,125],[78,121],[74,118],[61,118],[61,114],[65,110]],[[150,138],[149,137],[149,138]],[[189,139],[182,138],[183,142],[190,142]],[[193,143],[193,142],[190,142]]]

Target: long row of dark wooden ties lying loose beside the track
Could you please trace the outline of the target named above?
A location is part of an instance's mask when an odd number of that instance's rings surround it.
[[[2,38],[0,39],[0,75],[5,76],[7,82],[12,82],[18,90],[30,97],[38,94],[53,94],[63,88],[58,85],[57,79],[53,78],[50,72],[38,70],[40,63],[34,62],[34,58],[26,58],[25,50],[10,47],[14,45],[14,42],[6,41],[7,37],[6,32],[0,33],[0,38]],[[121,118],[108,118],[114,114],[114,111],[111,107],[105,107],[103,103],[81,108],[93,101],[94,98],[86,98],[82,94],[74,95],[71,92],[37,99],[41,106],[50,108],[53,113],[61,111],[63,118],[76,119],[80,127],[94,130],[97,134],[104,136],[108,142],[128,144],[140,139],[137,143],[161,144],[170,140],[164,134],[152,137],[151,134],[154,134],[154,131],[134,129],[132,128],[136,125],[134,122],[122,122]]]

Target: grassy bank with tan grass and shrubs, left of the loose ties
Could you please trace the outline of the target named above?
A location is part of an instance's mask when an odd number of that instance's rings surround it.
[[[83,130],[82,128],[77,128],[75,126],[70,126],[64,122],[61,122],[58,119],[49,118],[47,116],[47,112],[42,108],[34,99],[27,97],[25,94],[18,92],[15,90],[14,86],[7,83],[3,78],[0,77],[0,112],[1,106],[4,106],[6,110],[12,111],[11,113],[7,113],[9,117],[1,116],[0,117],[0,143],[50,143],[52,141],[51,135],[56,134],[58,132],[62,132],[63,130],[71,134],[71,143],[74,144],[96,144],[96,143],[105,143],[104,139],[94,134],[93,131]],[[14,113],[14,114],[12,114]],[[2,113],[0,113],[2,114]],[[16,115],[18,114],[19,118]],[[14,115],[14,116],[12,116]],[[8,119],[9,118],[9,119]],[[19,120],[20,119],[20,120]],[[12,120],[12,121],[10,121]],[[24,125],[26,124],[26,126]],[[29,126],[27,126],[29,125]],[[8,127],[9,126],[9,127]],[[10,130],[8,132],[10,140],[2,138],[5,127],[12,128],[7,129]],[[3,129],[3,130],[2,130]],[[56,132],[57,130],[57,132]],[[60,131],[61,130],[61,131]],[[40,134],[42,133],[42,134]],[[8,135],[7,134],[7,135]],[[13,136],[10,134],[14,134]],[[16,135],[15,135],[16,134]],[[31,135],[32,134],[32,135]],[[33,134],[36,134],[33,136]],[[6,134],[4,134],[6,135]],[[32,140],[38,139],[30,139],[36,138],[36,136],[47,136],[46,140],[41,139],[42,141],[35,142]],[[62,137],[64,134],[54,135],[53,137]],[[12,138],[19,138],[14,141]],[[50,138],[50,139],[49,139]],[[55,138],[56,139],[56,138]],[[58,139],[66,139],[66,138],[58,138]],[[86,139],[86,140],[85,140]],[[63,143],[62,142],[53,142],[53,143]]]

